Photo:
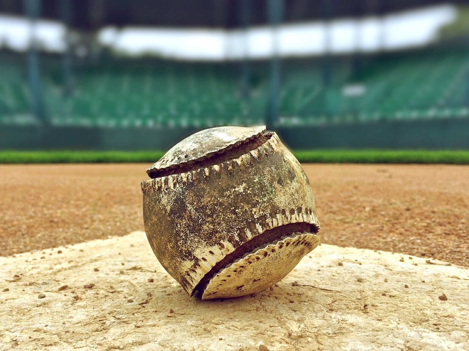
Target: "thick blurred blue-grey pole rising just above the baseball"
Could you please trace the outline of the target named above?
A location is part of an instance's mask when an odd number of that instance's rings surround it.
[[[268,19],[272,27],[273,52],[270,60],[270,101],[266,124],[273,127],[278,118],[278,95],[280,90],[280,62],[278,58],[278,25],[283,19],[283,0],[268,0]]]

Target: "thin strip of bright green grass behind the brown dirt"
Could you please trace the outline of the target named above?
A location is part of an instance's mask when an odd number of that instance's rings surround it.
[[[469,151],[297,150],[304,163],[469,165]],[[2,164],[154,163],[163,151],[0,151]]]

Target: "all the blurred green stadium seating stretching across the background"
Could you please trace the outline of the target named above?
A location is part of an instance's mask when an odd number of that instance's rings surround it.
[[[358,65],[357,58],[328,60],[282,62],[279,126],[469,117],[468,50],[362,57]],[[41,59],[44,112],[52,125],[261,124],[268,110],[267,62],[251,67],[249,100],[242,97],[237,63],[102,59],[75,64],[70,96],[64,96],[61,65],[59,57]],[[37,123],[26,68],[24,56],[0,55],[0,124]]]

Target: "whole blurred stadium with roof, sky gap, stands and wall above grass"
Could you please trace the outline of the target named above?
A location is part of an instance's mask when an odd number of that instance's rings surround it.
[[[469,149],[466,2],[0,0],[0,148]]]

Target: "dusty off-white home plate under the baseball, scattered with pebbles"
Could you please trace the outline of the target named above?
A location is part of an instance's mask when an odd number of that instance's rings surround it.
[[[321,245],[271,289],[200,301],[134,232],[0,257],[0,320],[1,350],[469,350],[469,270]]]

